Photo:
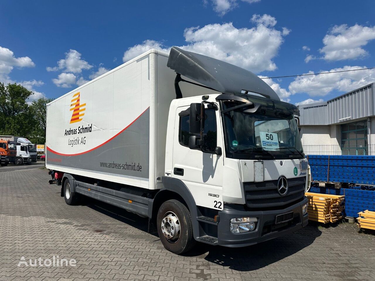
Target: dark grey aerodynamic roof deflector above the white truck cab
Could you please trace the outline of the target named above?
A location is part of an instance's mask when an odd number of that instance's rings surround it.
[[[182,97],[178,82],[183,81],[178,75],[183,75],[204,85],[205,88],[221,93],[234,94],[248,91],[280,100],[275,91],[254,73],[215,58],[172,47],[167,66],[177,73],[175,79],[177,98]]]

